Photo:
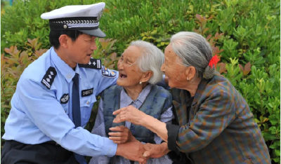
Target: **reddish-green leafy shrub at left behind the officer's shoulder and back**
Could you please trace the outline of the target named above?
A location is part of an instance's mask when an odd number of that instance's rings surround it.
[[[28,40],[26,50],[18,50],[17,46],[5,48],[8,54],[6,57],[1,55],[1,137],[4,134],[4,125],[11,109],[11,98],[15,93],[15,88],[22,71],[47,49],[39,49],[41,43],[38,39]],[[2,140],[3,142],[3,140]],[[2,143],[1,143],[2,145]]]

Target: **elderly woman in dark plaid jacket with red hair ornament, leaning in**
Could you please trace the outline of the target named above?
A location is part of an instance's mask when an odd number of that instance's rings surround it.
[[[200,34],[171,37],[162,64],[172,88],[174,124],[165,124],[133,107],[115,111],[114,122],[129,121],[152,130],[165,142],[146,144],[143,156],[178,155],[178,163],[270,163],[270,156],[249,105],[215,71],[218,62]]]

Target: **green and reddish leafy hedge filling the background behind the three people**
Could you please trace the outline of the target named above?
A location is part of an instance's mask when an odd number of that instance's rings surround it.
[[[48,21],[41,13],[95,0],[14,1],[1,11],[1,135],[11,97],[22,71],[50,48]],[[247,100],[261,128],[272,163],[280,163],[280,1],[263,0],[105,0],[99,39],[93,57],[116,69],[119,55],[131,41],[144,40],[160,49],[172,34],[193,31],[207,38],[221,55],[217,70]],[[1,6],[2,8],[2,6]],[[93,107],[86,129],[93,128]],[[1,142],[3,145],[4,142]]]

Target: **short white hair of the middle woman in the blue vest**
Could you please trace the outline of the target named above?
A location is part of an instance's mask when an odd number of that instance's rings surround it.
[[[146,41],[132,41],[130,46],[137,46],[141,50],[141,56],[138,57],[138,68],[143,72],[153,72],[148,83],[156,84],[162,81],[161,66],[164,63],[164,53],[157,46]]]

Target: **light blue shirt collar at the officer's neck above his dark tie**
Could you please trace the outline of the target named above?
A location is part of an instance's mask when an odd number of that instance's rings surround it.
[[[72,78],[74,77],[75,73],[80,74],[80,69],[78,64],[74,71],[68,64],[66,64],[63,60],[60,59],[58,54],[55,53],[55,49],[53,47],[51,48],[51,60],[55,64],[55,67],[58,69],[58,71],[60,71],[60,73],[63,74],[63,76],[65,76],[65,79],[67,80],[68,83],[72,81]]]

